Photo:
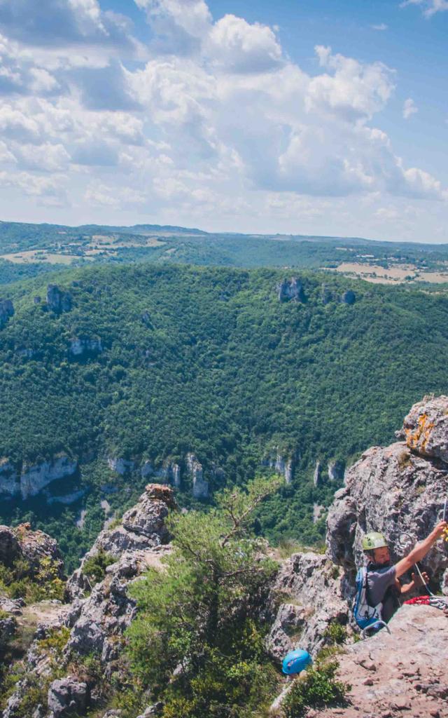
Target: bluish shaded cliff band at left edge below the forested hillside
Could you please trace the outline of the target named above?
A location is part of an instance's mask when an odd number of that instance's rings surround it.
[[[67,454],[59,454],[52,460],[39,464],[16,466],[9,459],[0,459],[0,494],[22,495],[26,499],[36,496],[52,481],[73,476],[78,463]]]

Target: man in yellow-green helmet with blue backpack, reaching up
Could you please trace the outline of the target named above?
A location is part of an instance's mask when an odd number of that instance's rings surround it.
[[[364,554],[366,554],[368,559],[368,564],[365,569],[359,570],[356,578],[358,584],[358,600],[356,602],[355,617],[359,625],[361,625],[363,621],[368,621],[368,625],[371,625],[374,623],[376,617],[387,623],[397,608],[399,608],[399,595],[405,594],[429,582],[429,577],[426,573],[421,574],[423,580],[420,577],[416,577],[415,574],[412,574],[412,580],[408,584],[401,584],[399,577],[408,572],[414,564],[426,556],[429,549],[431,549],[437,539],[447,531],[447,528],[447,521],[439,521],[437,526],[429,533],[429,536],[426,536],[423,541],[416,544],[414,549],[394,566],[391,566],[391,554],[383,534],[376,532],[366,533],[363,537],[362,546]],[[364,612],[361,606],[363,603],[361,598],[363,587],[365,588],[365,597],[368,607],[376,609],[376,613],[372,613],[371,615],[368,615],[368,612]],[[361,628],[363,628],[363,626],[361,626]]]

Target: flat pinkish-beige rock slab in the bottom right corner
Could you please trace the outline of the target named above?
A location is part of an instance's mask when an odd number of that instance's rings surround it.
[[[448,715],[448,620],[437,608],[403,606],[373,638],[338,656],[338,679],[351,684],[348,706],[317,718]]]

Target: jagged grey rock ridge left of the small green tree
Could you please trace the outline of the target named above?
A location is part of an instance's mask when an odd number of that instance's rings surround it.
[[[170,550],[166,545],[169,536],[165,518],[175,506],[171,488],[149,484],[138,503],[125,513],[120,526],[100,533],[80,569],[67,582],[71,604],[62,607],[61,620],[70,629],[70,635],[62,665],[69,666],[73,656],[95,654],[104,675],[110,679],[123,650],[123,633],[135,616],[135,600],[128,595],[128,584],[148,566],[161,567],[161,556]],[[83,569],[88,559],[102,551],[116,560],[105,569],[105,577],[92,586]],[[38,630],[37,638],[46,636],[46,628]],[[28,653],[27,673],[10,696],[2,718],[22,718],[22,699],[30,675],[42,680],[51,676],[48,657],[39,651],[38,643]],[[85,715],[94,694],[95,681],[89,684],[69,673],[51,681],[47,707],[41,707],[36,715],[39,718],[68,718],[74,712]]]

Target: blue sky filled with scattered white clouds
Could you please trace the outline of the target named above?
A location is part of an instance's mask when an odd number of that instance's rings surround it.
[[[448,0],[0,0],[0,220],[448,243]]]

